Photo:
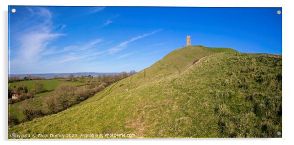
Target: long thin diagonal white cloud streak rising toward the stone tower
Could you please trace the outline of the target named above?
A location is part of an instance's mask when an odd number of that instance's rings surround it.
[[[143,34],[143,35],[140,35],[140,36],[134,37],[134,38],[132,38],[132,39],[130,39],[130,40],[128,40],[128,41],[122,42],[122,43],[120,43],[119,45],[117,45],[116,47],[113,47],[113,48],[108,49],[108,53],[109,53],[109,54],[113,54],[113,53],[116,53],[116,52],[118,52],[118,51],[121,51],[121,50],[124,49],[129,43],[131,43],[131,42],[133,42],[133,41],[136,41],[136,40],[138,40],[138,39],[142,39],[142,38],[145,38],[145,37],[147,37],[147,36],[153,35],[153,34],[155,34],[155,33],[157,33],[157,32],[160,32],[160,31],[162,31],[162,29],[154,30],[154,31],[152,31],[152,32],[150,32],[150,33],[145,33],[145,34]]]

